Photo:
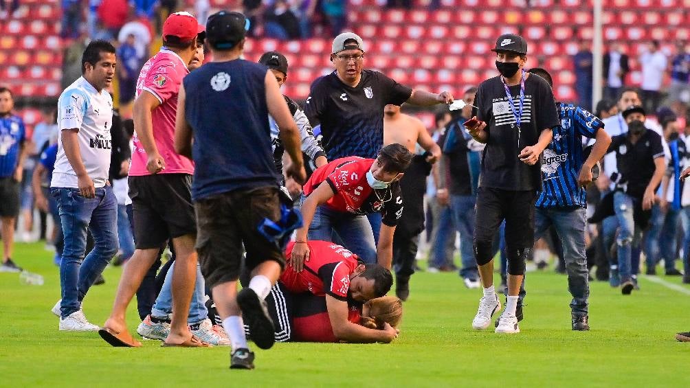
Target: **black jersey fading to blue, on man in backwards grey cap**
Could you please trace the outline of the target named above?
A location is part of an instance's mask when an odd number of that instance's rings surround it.
[[[304,112],[312,125],[321,124],[329,161],[347,156],[376,159],[384,144],[384,106],[401,105],[411,94],[410,88],[373,70],[362,70],[355,88],[333,72],[312,85]]]

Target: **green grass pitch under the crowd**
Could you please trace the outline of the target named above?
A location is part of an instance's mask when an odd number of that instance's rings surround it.
[[[566,277],[528,274],[521,334],[474,331],[480,290],[457,274],[419,273],[400,338],[390,345],[278,343],[257,350],[253,371],[230,371],[227,347],[113,348],[97,333],[57,329],[50,308],[59,299],[52,253],[41,244],[17,245],[15,261],[42,274],[43,286],[0,274],[0,386],[233,386],[233,387],[689,387],[690,343],[673,339],[690,330],[688,295],[640,280],[622,296],[593,283],[589,332],[570,329]],[[105,320],[121,270],[93,287],[83,309],[92,323]],[[660,278],[680,285],[680,278]],[[685,286],[683,286],[685,287]],[[690,290],[690,287],[684,289]],[[130,330],[138,317],[130,306]]]

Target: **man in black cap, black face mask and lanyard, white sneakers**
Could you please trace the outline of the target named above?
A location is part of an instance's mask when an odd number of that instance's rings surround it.
[[[504,34],[492,50],[500,76],[482,82],[475,117],[466,124],[472,137],[486,143],[475,211],[474,252],[484,297],[472,327],[486,329],[500,310],[493,287],[493,237],[506,221],[508,302],[497,333],[519,333],[515,309],[526,256],[534,243],[534,204],[542,187],[540,154],[559,124],[553,92],[539,76],[524,71],[527,43]]]

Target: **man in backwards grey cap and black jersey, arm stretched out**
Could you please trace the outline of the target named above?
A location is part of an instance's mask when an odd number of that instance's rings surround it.
[[[353,32],[333,40],[335,72],[317,79],[304,112],[312,125],[321,124],[329,161],[347,156],[376,159],[384,144],[384,106],[452,103],[449,92],[412,90],[380,72],[364,70],[364,43]]]

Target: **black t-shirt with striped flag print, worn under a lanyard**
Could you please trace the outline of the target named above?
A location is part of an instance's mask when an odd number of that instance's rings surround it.
[[[541,162],[527,165],[517,157],[528,145],[535,145],[542,130],[559,125],[556,103],[549,83],[540,76],[528,76],[524,84],[524,105],[520,131],[500,76],[479,85],[475,97],[477,119],[486,122],[489,141],[482,156],[480,187],[502,190],[540,190]],[[510,87],[515,112],[520,110],[520,84]],[[518,140],[519,137],[519,140]],[[541,159],[541,158],[540,158]]]

